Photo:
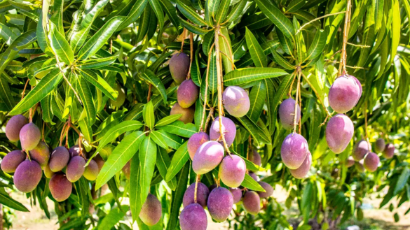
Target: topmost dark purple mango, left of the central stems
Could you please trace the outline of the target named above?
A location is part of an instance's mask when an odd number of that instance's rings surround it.
[[[168,66],[170,67],[171,76],[175,82],[181,84],[186,79],[190,63],[191,59],[183,52],[179,52],[171,57]]]

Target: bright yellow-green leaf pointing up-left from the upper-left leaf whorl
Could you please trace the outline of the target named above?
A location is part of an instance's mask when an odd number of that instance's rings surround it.
[[[74,62],[74,53],[71,50],[69,43],[65,40],[64,36],[60,34],[55,27],[55,24],[50,23],[50,34],[48,34],[50,40],[50,46],[53,49],[55,55],[62,60],[65,64],[69,65]]]

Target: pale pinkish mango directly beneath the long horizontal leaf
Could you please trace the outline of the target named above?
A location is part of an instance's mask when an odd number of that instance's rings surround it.
[[[222,101],[226,111],[233,117],[243,117],[250,109],[249,95],[245,89],[238,86],[226,87]]]

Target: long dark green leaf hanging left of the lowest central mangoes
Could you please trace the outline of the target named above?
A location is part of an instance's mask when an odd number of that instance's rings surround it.
[[[188,183],[188,175],[191,164],[186,163],[182,167],[181,173],[177,176],[177,189],[175,189],[175,192],[172,193],[170,220],[168,222],[167,230],[174,230],[177,228],[179,209],[181,208],[182,199],[184,198],[184,193],[186,191],[186,184]]]

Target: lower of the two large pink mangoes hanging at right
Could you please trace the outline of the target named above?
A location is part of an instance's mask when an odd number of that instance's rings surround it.
[[[339,113],[330,118],[326,126],[326,141],[330,150],[336,154],[343,152],[348,147],[354,131],[355,127],[348,116]]]

